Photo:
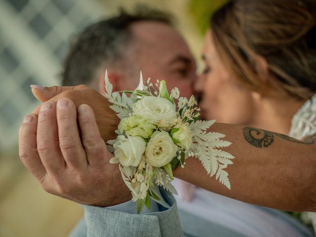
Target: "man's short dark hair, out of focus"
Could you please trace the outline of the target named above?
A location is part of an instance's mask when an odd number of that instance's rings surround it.
[[[129,26],[140,21],[173,26],[170,14],[144,5],[136,6],[133,13],[120,9],[118,16],[88,26],[75,38],[64,61],[62,84],[89,84],[101,65],[120,61],[133,39]]]

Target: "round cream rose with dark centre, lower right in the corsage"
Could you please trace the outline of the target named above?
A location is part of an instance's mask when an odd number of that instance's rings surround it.
[[[150,165],[161,167],[176,156],[177,150],[178,146],[174,144],[169,133],[156,131],[147,144],[145,156]]]

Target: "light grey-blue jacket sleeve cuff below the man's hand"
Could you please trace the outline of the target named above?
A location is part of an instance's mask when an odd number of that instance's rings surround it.
[[[171,208],[158,205],[159,212],[130,214],[83,205],[84,220],[70,237],[183,237],[174,197],[164,190],[160,192]]]

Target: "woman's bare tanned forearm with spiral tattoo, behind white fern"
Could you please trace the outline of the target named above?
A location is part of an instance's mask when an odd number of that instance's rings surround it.
[[[233,124],[215,123],[211,131],[226,134],[223,150],[236,158],[228,166],[231,190],[210,177],[199,160],[189,158],[174,176],[220,195],[284,210],[315,211],[316,144]]]

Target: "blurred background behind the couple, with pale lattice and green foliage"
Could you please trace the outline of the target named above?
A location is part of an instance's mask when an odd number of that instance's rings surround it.
[[[223,0],[137,1],[171,12],[195,56],[209,17]],[[58,85],[61,63],[74,34],[129,0],[0,0],[0,237],[63,237],[81,207],[41,190],[21,163],[18,129],[39,105],[30,84]]]

